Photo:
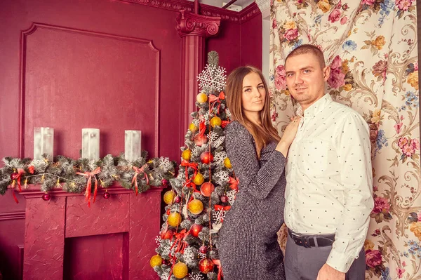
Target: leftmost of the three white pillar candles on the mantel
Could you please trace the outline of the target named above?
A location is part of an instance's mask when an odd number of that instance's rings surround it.
[[[48,154],[48,159],[53,161],[54,128],[34,128],[34,159],[43,159],[43,154]]]

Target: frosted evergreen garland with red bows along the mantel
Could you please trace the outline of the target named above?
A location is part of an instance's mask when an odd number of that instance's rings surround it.
[[[21,190],[34,184],[40,185],[43,192],[55,187],[61,187],[66,192],[85,192],[90,204],[91,194],[95,201],[98,187],[107,188],[118,184],[133,189],[137,194],[152,186],[166,186],[174,178],[174,161],[164,157],[148,160],[145,151],[136,161],[127,161],[123,154],[107,154],[98,161],[83,158],[74,160],[66,156],[56,156],[53,161],[49,161],[48,155],[44,154],[43,157],[5,157],[4,167],[0,168],[0,194],[5,194],[8,187]]]

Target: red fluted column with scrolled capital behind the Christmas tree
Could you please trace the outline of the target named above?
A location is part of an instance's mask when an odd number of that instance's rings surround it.
[[[182,118],[181,141],[196,111],[196,95],[199,93],[197,76],[205,67],[205,40],[218,34],[219,17],[199,15],[199,1],[194,1],[194,13],[180,10],[177,17],[177,31],[182,38]]]

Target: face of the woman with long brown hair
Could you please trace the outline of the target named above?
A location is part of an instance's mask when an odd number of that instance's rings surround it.
[[[250,72],[243,79],[242,107],[247,115],[258,114],[265,106],[266,90],[259,74]]]

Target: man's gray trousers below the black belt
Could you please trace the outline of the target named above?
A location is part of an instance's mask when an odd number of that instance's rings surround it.
[[[332,246],[305,248],[295,244],[288,234],[285,251],[286,280],[316,280],[319,270],[326,263]],[[346,280],[364,280],[366,274],[366,253],[364,248],[347,272]]]

